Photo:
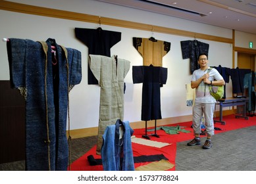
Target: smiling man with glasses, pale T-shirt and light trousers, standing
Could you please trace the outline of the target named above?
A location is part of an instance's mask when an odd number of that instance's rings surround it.
[[[188,146],[201,145],[201,117],[205,117],[207,139],[203,149],[211,149],[211,136],[214,134],[213,114],[215,110],[215,98],[209,91],[209,85],[225,85],[225,81],[215,68],[209,68],[207,54],[199,54],[197,60],[200,68],[192,75],[191,87],[195,88],[195,104],[193,106],[193,132],[195,138]]]

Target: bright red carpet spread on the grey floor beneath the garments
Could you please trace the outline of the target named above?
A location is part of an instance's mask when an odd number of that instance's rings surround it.
[[[225,131],[230,131],[233,129],[240,129],[242,127],[249,127],[249,126],[256,126],[256,116],[249,117],[249,120],[245,120],[243,118],[235,118],[234,115],[224,116],[223,120],[226,122],[226,125],[221,125],[220,123],[216,123],[215,127],[219,127],[222,130],[215,130],[215,134],[223,133]],[[157,135],[160,137],[153,137],[149,136],[151,141],[160,141],[164,143],[171,143],[172,145],[168,145],[161,149],[155,147],[147,147],[144,145],[140,145],[137,143],[132,143],[132,150],[134,152],[134,156],[141,156],[141,155],[153,155],[153,154],[164,154],[168,161],[172,164],[175,164],[176,158],[176,143],[182,141],[189,141],[193,139],[193,129],[192,129],[192,122],[184,122],[180,124],[172,124],[170,126],[181,126],[182,128],[191,131],[190,133],[179,133],[179,134],[167,134],[163,130],[158,130]],[[150,127],[152,128],[152,127]],[[149,135],[151,132],[148,132]],[[141,138],[142,135],[145,135],[145,129],[134,129],[134,135],[138,138]],[[205,135],[202,135],[205,136]],[[103,166],[90,166],[87,156],[93,155],[95,159],[101,158],[100,155],[95,154],[96,146],[93,147],[90,151],[86,152],[83,156],[78,158],[78,160],[74,161],[71,164],[71,170],[73,171],[102,171]],[[143,163],[136,163],[134,164],[135,168],[138,166],[143,166],[145,164],[149,164],[149,162]],[[175,166],[170,170],[175,170]]]

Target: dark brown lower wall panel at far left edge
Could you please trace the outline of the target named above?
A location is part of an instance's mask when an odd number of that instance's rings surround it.
[[[10,81],[0,81],[0,164],[25,159],[25,101]]]

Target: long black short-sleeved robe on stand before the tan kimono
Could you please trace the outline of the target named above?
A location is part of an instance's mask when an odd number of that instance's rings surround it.
[[[167,68],[160,66],[132,66],[134,83],[143,83],[141,120],[159,120],[161,116],[160,87],[166,83]]]

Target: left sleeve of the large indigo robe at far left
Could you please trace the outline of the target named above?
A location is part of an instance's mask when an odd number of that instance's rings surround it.
[[[36,76],[33,73],[33,68],[43,68],[45,65],[45,54],[38,52],[40,50],[41,44],[30,39],[9,38],[7,42],[11,87],[18,89],[25,100],[27,87],[33,85],[37,78],[44,77],[43,70],[38,70]]]

